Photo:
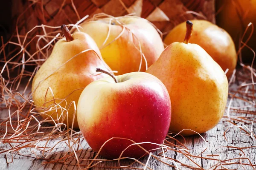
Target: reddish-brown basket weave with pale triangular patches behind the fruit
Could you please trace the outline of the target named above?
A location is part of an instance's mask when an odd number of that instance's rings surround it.
[[[18,22],[21,34],[36,25],[76,23],[87,14],[91,17],[102,12],[115,17],[134,13],[151,21],[163,33],[195,18],[215,23],[215,0],[13,0],[13,3],[13,17],[23,13]]]

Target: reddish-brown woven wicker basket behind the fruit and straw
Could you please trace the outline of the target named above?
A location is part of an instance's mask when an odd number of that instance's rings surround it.
[[[49,39],[38,41],[37,35],[51,32],[53,34],[50,36],[55,36],[60,29],[43,29],[35,26],[75,24],[87,14],[93,17],[98,13],[114,17],[134,14],[146,18],[157,26],[164,36],[174,26],[186,20],[205,19],[215,23],[215,0],[12,0],[13,23],[10,33],[15,31],[15,34],[12,34],[14,36],[10,41],[23,44],[30,54],[25,54],[26,59],[31,58],[32,54],[33,59],[46,59],[48,56],[45,54],[50,54],[52,48],[39,50],[38,47],[44,47]],[[52,42],[52,45],[55,42]],[[20,51],[20,46],[8,44],[5,49]],[[8,54],[7,59],[10,59],[12,53]],[[16,56],[15,61],[20,62],[22,57],[21,54]],[[43,60],[36,61],[36,65],[42,63]],[[31,70],[34,69],[34,66],[26,65],[26,69],[30,70],[30,67]]]

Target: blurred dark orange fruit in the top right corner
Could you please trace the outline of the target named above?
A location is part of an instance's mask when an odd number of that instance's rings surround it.
[[[216,11],[220,13],[216,16],[218,26],[224,28],[233,38],[238,50],[239,38],[244,34],[247,25],[251,22],[254,25],[253,36],[247,45],[256,51],[256,0],[216,0]],[[252,27],[247,31],[243,42],[247,40]],[[242,45],[242,44],[241,44]],[[253,59],[253,52],[245,47],[242,50],[242,60],[244,62]]]

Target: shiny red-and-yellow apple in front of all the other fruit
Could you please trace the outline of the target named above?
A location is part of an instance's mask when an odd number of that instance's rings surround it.
[[[82,92],[77,118],[85,140],[96,152],[112,137],[122,137],[135,142],[161,144],[171,121],[171,102],[163,83],[143,72],[102,78],[90,83]],[[118,158],[132,142],[113,139],[100,151],[108,159]],[[142,144],[146,150],[157,148]],[[123,156],[139,158],[145,151],[130,147]],[[123,157],[122,156],[122,157]]]

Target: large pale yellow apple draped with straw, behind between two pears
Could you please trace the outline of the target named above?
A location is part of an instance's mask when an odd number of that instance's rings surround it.
[[[164,46],[157,30],[149,21],[134,16],[104,18],[81,24],[100,48],[105,62],[116,75],[146,71],[162,53]],[[105,41],[106,40],[106,41]],[[140,52],[141,48],[141,52]]]

